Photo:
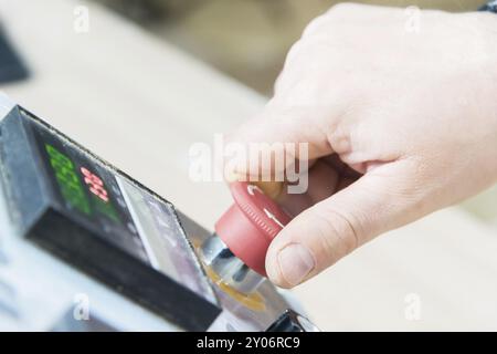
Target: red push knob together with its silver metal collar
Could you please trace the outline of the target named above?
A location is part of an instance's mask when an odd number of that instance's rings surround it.
[[[230,185],[234,204],[215,223],[215,233],[201,247],[205,266],[224,285],[243,294],[254,292],[266,277],[271,241],[289,222],[289,216],[252,184]]]

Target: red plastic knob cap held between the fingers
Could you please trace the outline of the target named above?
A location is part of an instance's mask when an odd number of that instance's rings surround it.
[[[215,223],[215,233],[246,266],[266,277],[267,248],[290,217],[254,185],[236,181],[230,188],[234,204]]]

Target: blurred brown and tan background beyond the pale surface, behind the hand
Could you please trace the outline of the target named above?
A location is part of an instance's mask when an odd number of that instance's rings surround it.
[[[304,27],[336,0],[95,0],[245,85],[269,95]],[[367,0],[361,3],[472,11],[484,0]]]

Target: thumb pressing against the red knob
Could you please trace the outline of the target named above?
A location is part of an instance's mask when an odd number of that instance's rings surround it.
[[[415,192],[399,164],[374,168],[293,219],[269,246],[268,278],[278,287],[295,287],[377,235],[413,220]]]

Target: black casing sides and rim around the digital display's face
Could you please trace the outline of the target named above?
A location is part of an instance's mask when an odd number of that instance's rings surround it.
[[[180,327],[207,330],[221,312],[216,304],[116,247],[99,235],[98,228],[82,222],[61,204],[36,148],[33,127],[46,129],[71,148],[88,152],[22,110],[14,107],[0,124],[2,180],[20,235]]]

